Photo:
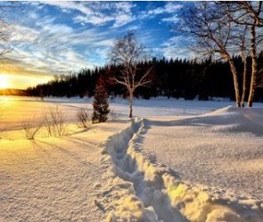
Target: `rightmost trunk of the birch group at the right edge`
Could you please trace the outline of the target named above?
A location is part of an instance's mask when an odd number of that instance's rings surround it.
[[[255,95],[256,79],[257,79],[257,71],[258,71],[255,26],[251,27],[251,60],[252,60],[252,69],[251,69],[251,89],[250,89],[250,95],[248,100],[249,107],[252,107],[253,105],[253,98]]]

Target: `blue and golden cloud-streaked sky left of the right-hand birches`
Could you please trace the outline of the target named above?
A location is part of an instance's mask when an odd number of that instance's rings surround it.
[[[191,57],[187,39],[172,31],[182,7],[182,2],[22,2],[10,16],[12,50],[2,58],[0,75],[8,76],[9,87],[27,88],[53,75],[103,66],[116,37],[128,30],[159,56]]]

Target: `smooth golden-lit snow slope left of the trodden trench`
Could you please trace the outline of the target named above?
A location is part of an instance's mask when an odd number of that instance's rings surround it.
[[[99,144],[126,127],[105,123],[71,136],[0,139],[0,221],[102,221]]]

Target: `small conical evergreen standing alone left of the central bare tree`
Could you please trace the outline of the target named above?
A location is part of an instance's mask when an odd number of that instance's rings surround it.
[[[93,116],[92,122],[105,122],[108,119],[110,112],[108,94],[103,76],[100,76],[95,86],[95,96],[93,101]]]

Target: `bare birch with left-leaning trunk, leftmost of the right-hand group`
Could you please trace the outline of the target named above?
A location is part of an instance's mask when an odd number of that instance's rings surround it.
[[[235,103],[241,107],[237,71],[231,54],[236,50],[233,42],[234,22],[229,22],[223,8],[214,2],[201,2],[185,6],[181,11],[179,30],[195,40],[195,50],[203,56],[219,55],[230,66],[234,81]]]

